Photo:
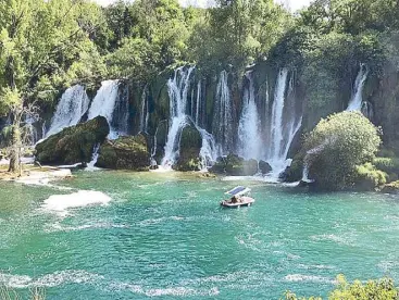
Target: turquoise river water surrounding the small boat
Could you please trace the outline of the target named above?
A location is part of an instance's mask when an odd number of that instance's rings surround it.
[[[238,184],[121,172],[58,183],[72,190],[0,183],[0,279],[47,299],[279,299],[326,296],[340,273],[399,280],[398,197],[252,183],[252,208],[220,209]],[[112,200],[43,207],[77,190]]]

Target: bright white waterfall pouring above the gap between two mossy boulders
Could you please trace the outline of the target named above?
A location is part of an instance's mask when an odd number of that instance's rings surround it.
[[[105,80],[101,83],[101,88],[97,91],[92,100],[88,118],[92,120],[96,116],[102,115],[110,124],[110,138],[116,138],[119,133],[112,127],[112,116],[119,96],[119,80]]]

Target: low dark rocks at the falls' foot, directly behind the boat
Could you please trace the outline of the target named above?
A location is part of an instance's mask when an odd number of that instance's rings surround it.
[[[229,154],[219,158],[210,172],[232,176],[253,176],[258,173],[258,162],[255,160],[246,161],[238,155]]]

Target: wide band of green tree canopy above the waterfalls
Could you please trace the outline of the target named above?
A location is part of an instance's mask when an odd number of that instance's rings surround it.
[[[399,0],[316,0],[297,14],[273,0],[219,0],[208,9],[177,0],[119,0],[107,8],[4,0],[0,16],[0,116],[11,117],[13,130],[26,115],[50,111],[75,83],[90,89],[105,78],[128,78],[142,88],[189,63],[211,76],[227,70],[239,90],[244,72],[263,62],[296,71],[310,130],[346,108],[363,63],[373,122],[384,127],[387,145],[399,140]]]

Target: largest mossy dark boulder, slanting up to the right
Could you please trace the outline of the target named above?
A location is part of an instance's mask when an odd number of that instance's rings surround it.
[[[36,146],[36,161],[41,164],[85,164],[91,160],[96,145],[103,142],[109,133],[110,126],[103,116],[67,127]]]

